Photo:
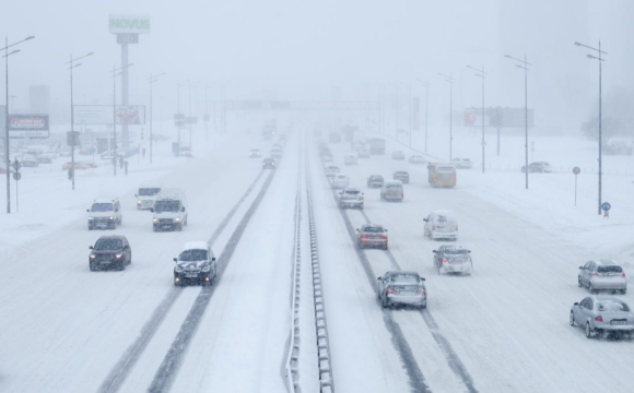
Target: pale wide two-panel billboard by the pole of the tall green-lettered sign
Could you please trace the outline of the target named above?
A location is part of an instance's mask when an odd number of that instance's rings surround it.
[[[144,105],[117,105],[117,124],[144,124]],[[73,107],[75,124],[111,124],[111,105],[75,105]]]

